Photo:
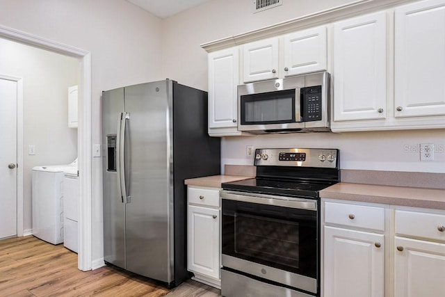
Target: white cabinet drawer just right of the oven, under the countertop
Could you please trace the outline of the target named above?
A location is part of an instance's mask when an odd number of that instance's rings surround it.
[[[385,231],[385,209],[383,207],[325,202],[325,223]]]

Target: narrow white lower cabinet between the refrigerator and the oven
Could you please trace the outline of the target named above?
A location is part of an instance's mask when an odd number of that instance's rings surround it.
[[[187,269],[220,288],[219,188],[188,186]],[[216,200],[216,197],[218,200]]]

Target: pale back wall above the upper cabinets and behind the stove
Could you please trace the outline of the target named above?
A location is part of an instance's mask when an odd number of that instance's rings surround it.
[[[349,0],[283,1],[282,6],[252,13],[253,1],[212,0],[163,21],[165,75],[207,90],[207,53],[200,44],[260,29],[289,19],[327,10]],[[364,70],[365,71],[365,70]],[[434,143],[435,161],[420,162],[417,145]],[[221,143],[221,161],[250,164],[245,146],[333,147],[341,150],[341,168],[445,172],[445,130],[351,132],[344,134],[281,134],[227,137]]]

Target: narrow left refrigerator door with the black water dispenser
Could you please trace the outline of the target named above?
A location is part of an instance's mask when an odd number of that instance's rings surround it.
[[[124,88],[102,93],[102,145],[111,145],[120,125],[124,111]],[[110,147],[111,148],[111,147]],[[114,149],[114,147],[113,147]],[[113,158],[113,160],[108,160]],[[125,204],[118,189],[118,172],[113,170],[115,154],[104,150],[103,191],[104,191],[104,260],[125,268]],[[108,168],[109,167],[109,168]]]

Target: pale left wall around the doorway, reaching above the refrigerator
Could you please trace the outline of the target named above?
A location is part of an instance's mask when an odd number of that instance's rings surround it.
[[[124,0],[1,0],[0,25],[91,53],[92,143],[100,97],[161,76],[161,19]],[[102,160],[92,160],[92,259],[103,257]]]

